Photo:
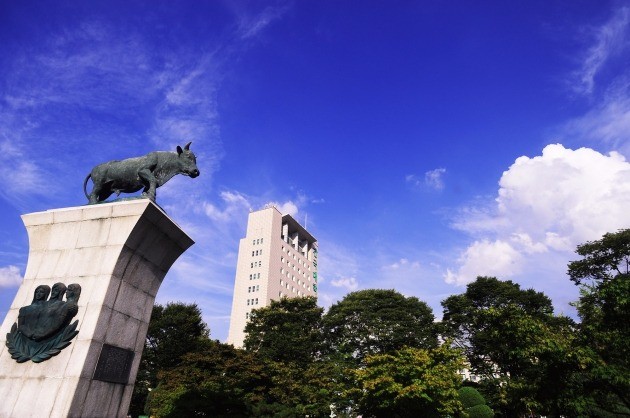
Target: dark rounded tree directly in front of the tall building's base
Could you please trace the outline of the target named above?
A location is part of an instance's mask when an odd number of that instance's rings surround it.
[[[252,311],[244,347],[269,360],[308,364],[320,351],[323,312],[313,297],[272,301]]]

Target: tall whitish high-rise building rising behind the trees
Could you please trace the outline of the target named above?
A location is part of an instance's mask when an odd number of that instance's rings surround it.
[[[243,346],[253,309],[301,296],[317,297],[317,240],[275,207],[251,212],[238,247],[227,342]]]

